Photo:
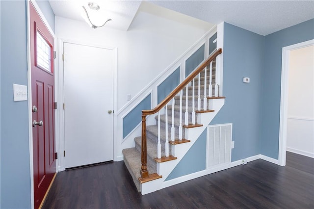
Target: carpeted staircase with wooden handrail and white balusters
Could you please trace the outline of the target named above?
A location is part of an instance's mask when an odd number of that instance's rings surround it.
[[[219,50],[158,104],[161,107],[155,111],[156,125],[146,127],[144,112],[149,110],[143,110],[145,134],[142,129],[142,136],[134,138],[135,147],[122,151],[125,165],[142,194],[163,187],[167,176],[223,106],[224,97],[218,97],[215,82]],[[163,102],[165,105],[161,105]]]

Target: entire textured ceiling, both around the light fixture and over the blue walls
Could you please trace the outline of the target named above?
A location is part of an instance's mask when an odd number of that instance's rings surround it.
[[[82,5],[91,0],[49,0],[56,16],[83,21]],[[141,0],[93,0],[107,27],[127,31]],[[212,23],[227,22],[267,35],[314,18],[314,0],[152,0],[159,6]]]

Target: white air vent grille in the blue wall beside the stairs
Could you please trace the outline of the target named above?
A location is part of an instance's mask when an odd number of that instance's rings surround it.
[[[207,128],[207,168],[231,161],[232,124]]]

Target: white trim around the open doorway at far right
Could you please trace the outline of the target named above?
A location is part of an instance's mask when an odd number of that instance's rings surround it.
[[[288,118],[288,76],[290,51],[314,45],[314,39],[283,47],[281,67],[280,122],[278,165],[286,165],[287,118]]]

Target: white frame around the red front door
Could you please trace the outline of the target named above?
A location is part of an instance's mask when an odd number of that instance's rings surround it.
[[[44,13],[40,10],[38,4],[35,0],[27,0],[26,8],[27,8],[27,101],[28,101],[28,142],[29,142],[29,167],[30,167],[30,203],[31,208],[33,209],[35,207],[34,202],[34,163],[33,163],[33,132],[32,132],[32,95],[31,95],[31,53],[30,53],[30,8],[29,3],[32,3],[35,7],[36,11],[38,12],[40,18],[48,28],[49,32],[52,34],[53,39],[55,40],[55,34],[52,30],[51,26],[49,25],[47,19],[45,18]],[[55,49],[55,43],[54,43],[54,49]],[[54,61],[54,71],[58,72],[57,66],[56,66],[56,59]],[[54,79],[54,84],[56,83],[56,79]],[[54,95],[56,98],[56,95]],[[56,123],[56,122],[55,122]],[[56,131],[55,131],[56,132]],[[57,137],[57,135],[56,135]],[[56,150],[57,152],[57,150]],[[56,172],[57,169],[56,169]]]

